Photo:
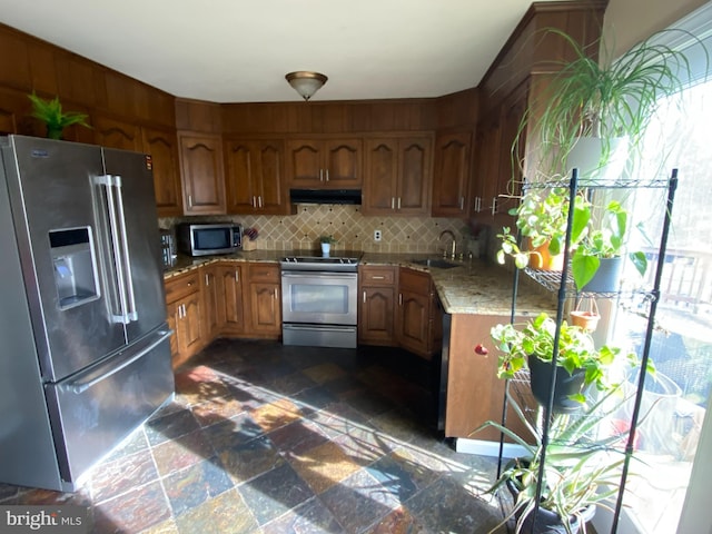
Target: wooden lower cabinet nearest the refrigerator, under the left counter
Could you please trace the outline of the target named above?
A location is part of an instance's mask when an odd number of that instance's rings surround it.
[[[170,340],[172,363],[177,367],[205,345],[201,325],[205,310],[198,270],[169,278],[166,301],[168,326],[174,330]]]

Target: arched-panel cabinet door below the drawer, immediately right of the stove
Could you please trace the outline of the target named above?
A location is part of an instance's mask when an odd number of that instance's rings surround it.
[[[358,304],[358,343],[393,345],[395,335],[395,288],[362,287]]]

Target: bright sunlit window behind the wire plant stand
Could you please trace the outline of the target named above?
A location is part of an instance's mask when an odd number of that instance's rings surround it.
[[[705,58],[694,61],[695,67],[706,69]],[[683,109],[661,102],[643,150],[655,154],[663,137],[674,147],[665,172],[679,168],[651,345],[657,374],[646,379],[642,414],[647,415],[639,425],[636,439],[636,455],[644,463],[631,464],[641,476],[629,477],[624,497],[631,530],[646,534],[678,531],[712,393],[712,81],[700,81],[710,72],[699,70],[698,75],[696,83],[683,93]],[[656,168],[641,162],[642,177],[654,178],[654,174]],[[660,190],[639,191],[632,202],[635,220],[631,227],[637,222],[661,227],[665,206]],[[650,281],[659,259],[660,236],[649,237],[655,245],[639,245],[650,261]],[[646,320],[639,312],[635,307],[619,308],[612,322],[616,343],[627,339],[636,348],[642,346]]]

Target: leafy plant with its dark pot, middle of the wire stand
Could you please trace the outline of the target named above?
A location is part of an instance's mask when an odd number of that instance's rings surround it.
[[[490,334],[500,349],[497,377],[513,378],[518,370],[528,369],[532,394],[545,405],[548,402],[556,322],[542,313],[525,325],[496,325]],[[610,389],[609,368],[620,352],[620,348],[609,345],[596,348],[589,332],[562,322],[556,354],[555,411],[580,409],[590,386],[599,390]],[[627,359],[632,365],[637,363],[635,354],[629,354]]]

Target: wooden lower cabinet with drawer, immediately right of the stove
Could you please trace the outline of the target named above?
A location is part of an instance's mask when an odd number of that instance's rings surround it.
[[[397,273],[395,267],[359,267],[359,344],[395,345]]]

